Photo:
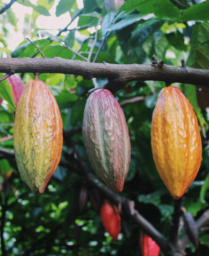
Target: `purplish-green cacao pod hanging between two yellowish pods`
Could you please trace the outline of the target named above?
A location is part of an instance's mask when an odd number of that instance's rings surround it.
[[[110,91],[90,94],[83,138],[94,171],[115,193],[121,192],[130,163],[130,139],[123,110]]]

